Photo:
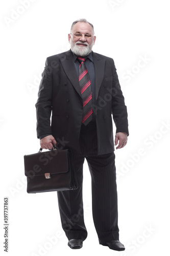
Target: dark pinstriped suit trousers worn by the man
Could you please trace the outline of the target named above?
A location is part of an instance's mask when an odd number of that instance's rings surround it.
[[[85,158],[91,175],[92,215],[99,242],[119,239],[115,155],[98,155],[97,143],[96,123],[82,124],[81,154],[73,151],[78,189],[57,192],[62,228],[68,240],[87,238],[82,198]]]

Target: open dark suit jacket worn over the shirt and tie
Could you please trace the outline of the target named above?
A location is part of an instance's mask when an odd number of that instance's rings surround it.
[[[128,132],[128,115],[112,58],[92,52],[98,155],[114,151],[112,116],[117,132]],[[37,137],[52,134],[61,145],[80,152],[83,101],[71,50],[47,57],[36,103]],[[51,117],[52,113],[52,117]]]

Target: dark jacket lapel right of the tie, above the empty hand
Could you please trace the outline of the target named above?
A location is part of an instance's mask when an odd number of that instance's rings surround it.
[[[105,59],[101,58],[97,53],[92,52],[95,70],[95,100],[98,98],[99,90],[104,78]]]

